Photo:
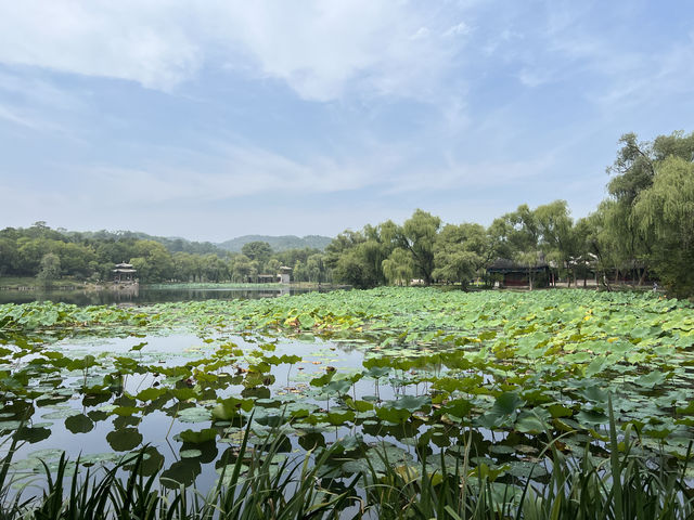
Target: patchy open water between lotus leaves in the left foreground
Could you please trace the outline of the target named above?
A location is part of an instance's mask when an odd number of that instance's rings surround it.
[[[254,359],[253,351],[259,352],[269,347],[261,347],[258,338],[218,335],[214,342],[207,342],[196,335],[174,334],[170,336],[147,335],[143,338],[89,338],[65,339],[52,346],[70,358],[93,355],[103,361],[125,355],[131,356],[140,363],[162,368],[194,362],[197,359],[215,353],[220,344],[233,342],[234,347],[243,349],[246,356]],[[133,352],[132,348],[139,343],[141,350]],[[274,340],[268,353],[274,355],[297,354],[301,361],[272,366],[268,374],[272,381],[257,388],[244,386],[239,381],[223,389],[218,389],[217,395],[226,398],[240,395],[256,398],[258,406],[256,418],[267,416],[270,420],[279,419],[287,414],[283,408],[290,403],[301,402],[316,410],[337,406],[335,396],[321,395],[320,391],[310,386],[310,380],[325,374],[326,366],[334,367],[340,373],[356,372],[361,367],[364,346],[354,342],[333,342],[316,339],[314,341]],[[248,367],[248,358],[240,358],[233,366],[224,367],[222,372],[233,373],[236,366]],[[108,372],[108,370],[106,370]],[[241,373],[241,369],[240,369]],[[60,382],[57,382],[60,379]],[[78,456],[82,463],[93,464],[114,460],[129,452],[134,452],[147,444],[152,464],[163,465],[163,477],[172,478],[185,484],[195,483],[202,490],[209,490],[215,484],[219,473],[219,464],[230,446],[237,445],[243,428],[226,428],[209,419],[209,412],[200,403],[176,402],[167,403],[167,407],[159,407],[140,402],[131,398],[146,388],[167,386],[166,377],[156,373],[131,374],[121,380],[121,387],[104,399],[90,400],[85,394],[85,386],[100,380],[99,370],[91,373],[63,373],[47,377],[46,380],[33,382],[36,390],[44,392],[36,402],[21,404],[18,401],[0,398],[0,442],[9,442],[9,434],[18,427],[21,420],[21,444],[13,457],[12,471],[15,476],[34,478],[42,472],[40,459],[51,469],[55,468],[57,458],[63,450],[72,460]],[[350,389],[356,395],[373,394],[374,380],[360,380]],[[384,381],[385,382],[385,381]],[[380,385],[380,395],[393,399],[394,389],[387,382]],[[170,381],[168,381],[170,385]],[[181,385],[177,385],[181,387]],[[130,395],[130,396],[129,396]],[[118,412],[117,407],[126,411]],[[209,405],[207,406],[209,407]],[[127,411],[132,410],[133,413]],[[116,411],[116,413],[114,413]],[[190,414],[191,411],[202,412]],[[187,414],[187,412],[189,414]],[[21,419],[22,416],[27,419]],[[227,422],[227,426],[230,426]],[[290,437],[291,448],[287,453],[308,450],[314,444],[325,445],[345,435],[354,435],[361,428],[322,425],[322,428],[310,431],[313,427],[306,425],[309,431],[301,438],[296,433]],[[192,444],[181,441],[178,435],[184,430],[201,430],[215,427],[219,431],[219,442]],[[260,427],[259,427],[260,428]],[[363,432],[367,442],[375,443],[376,437]],[[393,439],[395,440],[395,439]],[[310,443],[310,444],[308,444]],[[406,447],[406,446],[402,446]],[[200,452],[200,453],[196,453]],[[217,467],[217,470],[216,470]],[[72,468],[72,466],[70,466]]]

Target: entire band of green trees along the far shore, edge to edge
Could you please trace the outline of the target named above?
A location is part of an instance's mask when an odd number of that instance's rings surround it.
[[[576,284],[595,277],[643,284],[657,280],[676,296],[694,294],[694,132],[653,141],[622,135],[607,168],[607,197],[574,220],[564,200],[515,211],[491,225],[444,224],[417,209],[402,224],[390,220],[339,233],[324,251],[273,251],[266,242],[241,253],[211,244],[153,240],[137,233],[68,233],[43,222],[0,231],[0,275],[72,275],[110,280],[127,261],[140,281],[252,282],[293,269],[293,280],[335,282],[358,288],[386,284],[492,283],[487,269],[506,259],[528,269],[549,264],[554,276]]]

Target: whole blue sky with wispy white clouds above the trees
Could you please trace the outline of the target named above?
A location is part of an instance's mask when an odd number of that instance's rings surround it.
[[[578,219],[693,94],[691,0],[0,0],[0,227]]]

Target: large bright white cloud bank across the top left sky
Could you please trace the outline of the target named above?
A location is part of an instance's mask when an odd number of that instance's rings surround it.
[[[428,95],[462,42],[433,38],[428,24],[442,34],[448,16],[407,1],[2,3],[0,62],[165,91],[223,62],[307,100],[339,99],[348,88]]]

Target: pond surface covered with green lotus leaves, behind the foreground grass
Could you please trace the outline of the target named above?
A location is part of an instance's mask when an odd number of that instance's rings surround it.
[[[343,446],[335,471],[455,465],[499,482],[606,456],[608,402],[638,448],[687,457],[694,309],[651,294],[380,288],[139,308],[0,306],[11,470],[146,445],[164,485],[209,487],[246,428],[283,451]],[[4,439],[4,441],[3,441]],[[253,439],[252,439],[253,440]],[[689,471],[689,470],[687,470]]]

